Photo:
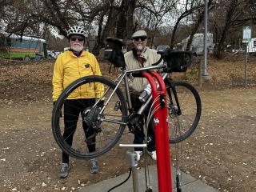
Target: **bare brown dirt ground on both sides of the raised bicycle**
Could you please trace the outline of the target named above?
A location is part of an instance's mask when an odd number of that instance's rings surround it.
[[[200,95],[202,119],[193,137],[182,143],[182,169],[221,191],[255,191],[256,89]],[[59,179],[60,150],[51,134],[50,112],[51,102],[1,107],[1,191],[75,191],[127,170],[123,151],[115,149],[100,158],[100,174],[91,175],[88,162],[72,159],[70,177]]]

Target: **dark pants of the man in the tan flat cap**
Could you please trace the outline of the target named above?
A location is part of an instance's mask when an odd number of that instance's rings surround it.
[[[131,99],[131,104],[132,104],[134,110],[137,112],[143,103],[141,101],[139,101],[139,99],[137,97],[131,97],[130,99]],[[146,122],[147,115],[150,115],[149,112],[150,112],[150,105],[144,111],[145,122]],[[142,130],[143,130],[143,127],[142,127]],[[148,151],[155,150],[153,118],[150,119],[149,127],[147,130],[147,137],[150,138],[150,142],[147,143],[147,150]],[[141,136],[139,136],[138,134],[134,134],[134,144],[142,144],[142,142],[143,142],[143,138]],[[134,150],[142,150],[142,148],[134,148]]]

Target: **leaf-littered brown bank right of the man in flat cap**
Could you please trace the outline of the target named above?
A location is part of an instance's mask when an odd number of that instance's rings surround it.
[[[186,73],[173,74],[174,79],[183,79],[198,84],[198,66],[203,64],[203,58],[194,58],[193,64]],[[245,82],[245,58],[242,54],[226,54],[222,60],[211,56],[208,58],[207,72],[210,79],[207,79],[205,86],[212,86],[214,89],[229,88],[232,86],[244,86]],[[256,85],[256,57],[250,56],[246,65],[247,86]]]

